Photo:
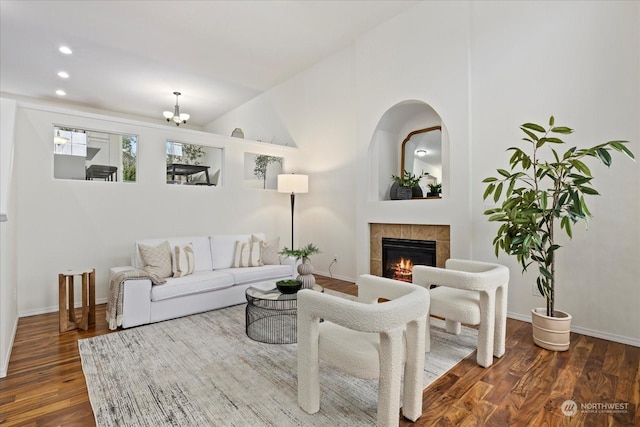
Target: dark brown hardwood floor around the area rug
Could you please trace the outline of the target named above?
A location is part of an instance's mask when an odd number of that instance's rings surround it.
[[[328,289],[355,295],[349,282],[318,276]],[[88,331],[58,333],[58,313],[21,318],[0,379],[0,425],[93,426],[77,340],[112,333],[105,305]],[[640,348],[572,334],[571,348],[536,347],[528,323],[509,319],[507,352],[491,368],[475,353],[424,391],[424,413],[401,426],[640,426]],[[563,415],[574,400],[577,413]],[[582,404],[590,405],[590,410]],[[617,404],[617,410],[602,405]]]

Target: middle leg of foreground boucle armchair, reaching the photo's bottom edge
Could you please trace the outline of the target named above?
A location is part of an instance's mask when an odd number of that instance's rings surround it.
[[[378,427],[400,422],[400,378],[403,364],[404,328],[380,334],[380,379],[378,382]]]

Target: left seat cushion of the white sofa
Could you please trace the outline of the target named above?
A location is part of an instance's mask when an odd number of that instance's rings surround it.
[[[167,283],[151,287],[151,301],[209,292],[233,286],[233,276],[218,271],[194,271],[186,277],[169,277]]]

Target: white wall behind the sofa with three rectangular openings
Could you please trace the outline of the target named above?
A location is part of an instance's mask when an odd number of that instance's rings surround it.
[[[54,179],[52,123],[139,135],[137,182]],[[256,231],[289,238],[288,197],[245,188],[242,171],[245,151],[289,159],[295,149],[23,102],[15,136],[21,316],[57,310],[57,274],[67,269],[95,267],[104,301],[109,268],[128,265],[139,238]],[[224,186],[167,185],[167,139],[223,148]]]

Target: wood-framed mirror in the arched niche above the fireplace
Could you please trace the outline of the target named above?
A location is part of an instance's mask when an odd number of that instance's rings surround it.
[[[420,176],[420,187],[414,189],[413,197],[440,197],[442,189],[442,128],[432,126],[409,132],[402,141],[400,172]],[[393,196],[393,188],[392,188]],[[393,197],[392,197],[393,198]]]

